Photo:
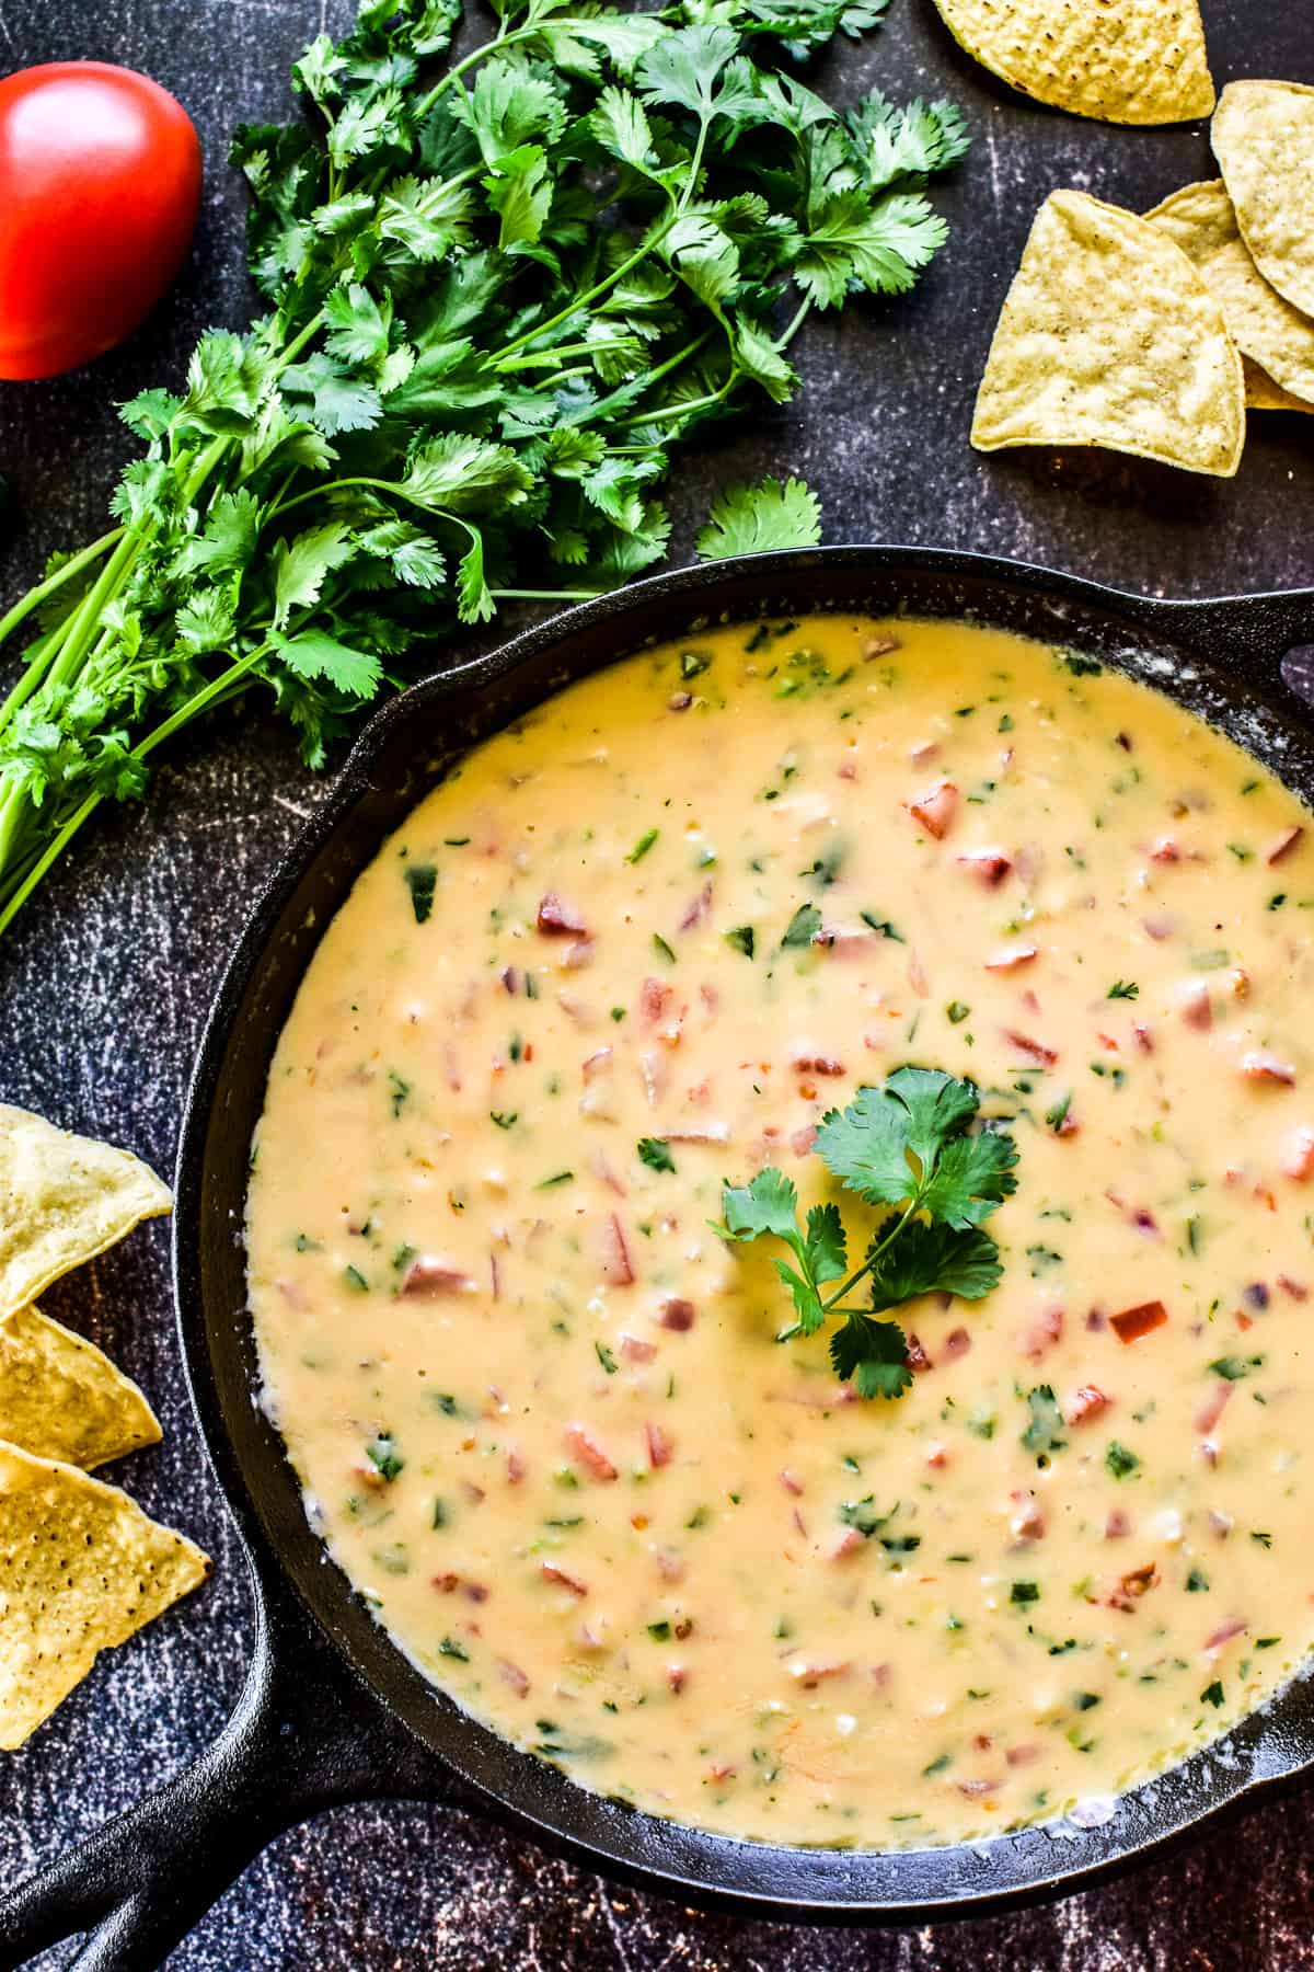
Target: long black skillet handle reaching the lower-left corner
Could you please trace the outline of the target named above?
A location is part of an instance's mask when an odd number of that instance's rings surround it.
[[[362,1798],[475,1806],[280,1603],[258,1593],[246,1686],[201,1759],[0,1895],[0,1972],[79,1933],[67,1972],[158,1972],[284,1828]]]

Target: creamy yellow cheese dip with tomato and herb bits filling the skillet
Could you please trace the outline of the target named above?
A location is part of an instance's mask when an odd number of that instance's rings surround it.
[[[248,1225],[313,1522],[433,1682],[656,1814],[863,1846],[1271,1694],[1314,1633],[1306,826],[1141,684],[944,623],[715,631],[473,751],[319,947]],[[912,1390],[863,1402],[709,1221],[776,1163],[861,1242],[812,1128],[906,1061],[1020,1181],[1003,1284],[902,1309]]]

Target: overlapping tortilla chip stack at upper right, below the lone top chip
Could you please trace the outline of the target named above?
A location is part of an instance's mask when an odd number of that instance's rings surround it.
[[[1046,199],[973,446],[1103,446],[1229,479],[1247,406],[1314,410],[1314,89],[1229,85],[1214,152],[1221,179],[1145,217]]]

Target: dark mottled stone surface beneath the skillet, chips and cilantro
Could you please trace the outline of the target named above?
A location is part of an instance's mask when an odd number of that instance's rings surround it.
[[[1091,0],[1093,4],[1093,0]],[[1166,4],[1166,0],[1164,0]],[[286,112],[286,69],[343,0],[0,0],[0,69],[55,57],[124,61],[173,89],[205,142],[197,246],[156,319],[93,371],[0,385],[0,594],[55,544],[99,532],[124,458],[112,402],[177,383],[199,327],[248,310],[240,193],[225,166],[238,118]],[[1214,67],[1314,81],[1314,0],[1204,0]],[[806,394],[686,461],[682,540],[725,477],[802,469],[831,540],[987,548],[1129,588],[1210,594],[1314,580],[1314,420],[1255,420],[1231,485],[1101,456],[967,450],[981,359],[1030,215],[1058,183],[1147,207],[1212,176],[1200,130],[1076,122],[957,53],[930,0],[837,57],[833,87],[953,93],[977,148],[942,195],[950,250],[914,298],[853,310],[802,339]],[[1314,611],[1312,611],[1314,635]],[[0,951],[0,1098],[173,1158],[191,1051],[246,901],[319,799],[284,738],[211,728],[160,773],[144,810],[97,826]],[[164,1447],[122,1473],[144,1505],[207,1544],[213,1585],[104,1662],[28,1751],[0,1765],[0,1883],[185,1765],[227,1716],[248,1653],[250,1601],[181,1388],[165,1232],[136,1234],[49,1298],[140,1376]],[[276,1842],[181,1948],[177,1972],[1253,1972],[1314,1968],[1314,1804],[1271,1802],[1237,1830],[1123,1885],[957,1931],[818,1935],[705,1919],[611,1893],[528,1844],[437,1808],[339,1810]],[[55,1966],[67,1952],[51,1954]]]

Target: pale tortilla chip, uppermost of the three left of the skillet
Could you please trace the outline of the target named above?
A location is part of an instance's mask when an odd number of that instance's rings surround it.
[[[0,1319],[171,1205],[130,1152],[0,1104]]]

